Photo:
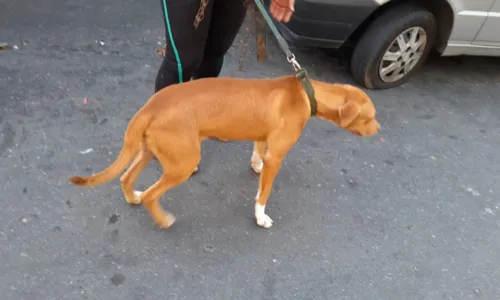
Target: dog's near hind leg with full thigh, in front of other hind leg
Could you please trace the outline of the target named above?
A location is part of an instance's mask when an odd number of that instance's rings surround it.
[[[142,193],[141,199],[158,227],[168,228],[175,222],[175,216],[162,209],[160,197],[189,179],[201,160],[200,143],[198,139],[176,137],[160,131],[151,136],[155,138],[148,142],[148,148],[158,158],[163,168],[163,175]],[[167,141],[175,141],[175,143],[169,144]]]

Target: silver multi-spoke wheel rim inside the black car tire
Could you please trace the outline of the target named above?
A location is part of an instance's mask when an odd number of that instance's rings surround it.
[[[427,45],[427,33],[422,27],[411,27],[399,34],[382,56],[379,76],[382,81],[398,81],[418,64]]]

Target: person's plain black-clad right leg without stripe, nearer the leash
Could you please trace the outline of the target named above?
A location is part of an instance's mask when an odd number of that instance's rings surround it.
[[[211,0],[214,2],[203,60],[193,75],[194,79],[217,77],[229,50],[245,20],[244,0]]]

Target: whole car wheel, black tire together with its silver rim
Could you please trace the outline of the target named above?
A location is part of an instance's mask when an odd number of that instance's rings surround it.
[[[369,89],[399,86],[425,63],[436,35],[435,16],[425,8],[412,4],[393,7],[378,16],[357,42],[351,57],[352,76]],[[408,47],[404,51],[398,43],[402,37]],[[391,68],[394,71],[387,73]]]

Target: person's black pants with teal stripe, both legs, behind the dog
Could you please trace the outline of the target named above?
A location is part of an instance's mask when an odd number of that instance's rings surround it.
[[[160,1],[167,46],[155,92],[191,78],[219,76],[224,55],[245,18],[244,0],[208,0],[198,28],[193,23],[201,0]]]

